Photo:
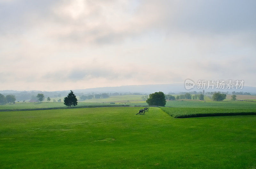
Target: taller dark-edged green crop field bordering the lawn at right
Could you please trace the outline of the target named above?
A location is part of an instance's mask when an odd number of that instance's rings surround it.
[[[168,108],[161,109],[175,118],[205,117],[205,116],[236,116],[256,115],[256,109],[223,109],[223,108]]]

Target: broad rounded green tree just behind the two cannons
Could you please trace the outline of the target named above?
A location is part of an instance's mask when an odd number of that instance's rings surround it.
[[[149,105],[164,106],[166,100],[163,92],[155,92],[149,95],[149,98],[146,100]]]

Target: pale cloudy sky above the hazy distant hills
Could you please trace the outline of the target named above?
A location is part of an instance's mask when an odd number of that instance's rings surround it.
[[[0,90],[244,80],[256,1],[0,0]]]

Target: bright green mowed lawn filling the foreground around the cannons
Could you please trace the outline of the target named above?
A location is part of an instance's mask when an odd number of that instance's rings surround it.
[[[255,168],[256,116],[178,119],[159,108],[0,113],[0,168]]]

